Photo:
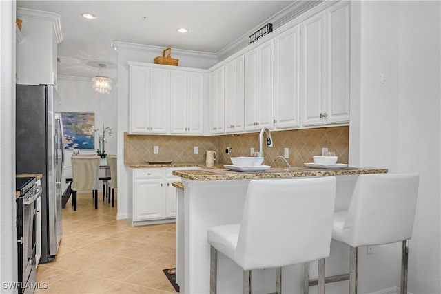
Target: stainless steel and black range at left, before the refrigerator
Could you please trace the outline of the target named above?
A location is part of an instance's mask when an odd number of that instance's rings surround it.
[[[36,269],[36,213],[35,203],[41,196],[41,186],[34,177],[16,178],[17,198],[17,255],[18,293],[34,293]]]

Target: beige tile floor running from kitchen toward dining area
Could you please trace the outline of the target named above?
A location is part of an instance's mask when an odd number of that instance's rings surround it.
[[[76,211],[66,204],[59,254],[39,264],[47,288],[35,293],[176,293],[162,271],[176,265],[176,224],[132,227],[98,196],[98,210],[92,193],[78,195]]]

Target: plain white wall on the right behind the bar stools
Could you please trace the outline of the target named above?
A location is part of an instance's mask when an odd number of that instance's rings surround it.
[[[353,1],[351,7],[349,162],[420,173],[408,290],[440,293],[440,2]],[[399,255],[398,245],[362,255],[359,266],[368,276],[360,273],[360,293],[399,286]]]

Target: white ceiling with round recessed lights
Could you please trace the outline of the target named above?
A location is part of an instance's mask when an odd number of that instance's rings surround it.
[[[18,0],[17,7],[61,17],[59,75],[90,78],[98,72],[96,64],[104,62],[107,74],[116,78],[113,41],[217,54],[294,2]],[[84,19],[83,12],[95,14],[96,19]],[[176,32],[180,27],[189,32]]]

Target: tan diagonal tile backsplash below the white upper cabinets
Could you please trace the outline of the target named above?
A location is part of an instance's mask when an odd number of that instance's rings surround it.
[[[232,147],[231,156],[250,156],[251,148],[258,151],[258,133],[219,136],[162,136],[124,134],[124,162],[143,163],[145,161],[172,160],[174,162],[205,162],[207,150],[218,154],[216,162],[231,164],[227,147]],[[321,155],[322,147],[334,151],[339,163],[349,160],[349,127],[322,127],[317,129],[296,129],[271,132],[274,147],[267,147],[266,134],[263,142],[264,165],[284,167],[283,160],[274,162],[276,156],[284,155],[289,149],[287,161],[293,167],[305,162],[314,162],[312,156]],[[159,153],[154,154],[154,146]],[[198,154],[194,154],[198,147]]]

